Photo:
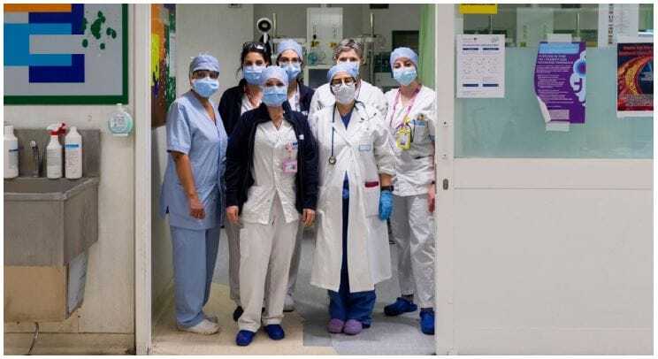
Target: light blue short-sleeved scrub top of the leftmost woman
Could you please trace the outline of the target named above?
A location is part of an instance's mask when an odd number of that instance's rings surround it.
[[[215,121],[203,104],[188,91],[172,103],[167,112],[167,151],[186,154],[192,165],[196,192],[203,203],[205,218],[189,214],[187,195],[180,183],[176,164],[167,156],[165,180],[160,192],[160,213],[169,213],[169,225],[187,229],[210,229],[222,224],[224,214],[223,177],[226,171],[227,137],[217,106]]]

